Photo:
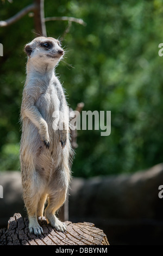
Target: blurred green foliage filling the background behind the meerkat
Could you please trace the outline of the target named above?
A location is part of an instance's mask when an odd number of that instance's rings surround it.
[[[0,20],[32,3],[0,0]],[[155,1],[45,0],[45,17],[73,16],[62,45],[68,50],[56,69],[73,109],[110,110],[111,134],[79,130],[73,176],[119,174],[162,162],[163,4]],[[67,21],[46,22],[47,35],[62,36]],[[19,123],[26,79],[23,46],[35,37],[33,17],[0,28],[0,170],[20,170]]]

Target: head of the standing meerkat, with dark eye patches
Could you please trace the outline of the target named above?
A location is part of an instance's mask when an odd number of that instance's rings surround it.
[[[55,67],[64,56],[60,41],[52,37],[37,37],[26,44],[24,51],[35,66],[50,63]]]

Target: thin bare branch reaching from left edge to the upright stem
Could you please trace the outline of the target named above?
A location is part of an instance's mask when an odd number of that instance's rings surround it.
[[[19,11],[17,14],[10,17],[9,19],[0,21],[0,27],[6,27],[6,26],[11,25],[12,23],[15,23],[17,20],[20,20],[21,17],[23,17],[24,15],[29,13],[29,11],[35,10],[35,8],[36,8],[35,4],[28,5],[27,7],[23,8],[21,11]]]

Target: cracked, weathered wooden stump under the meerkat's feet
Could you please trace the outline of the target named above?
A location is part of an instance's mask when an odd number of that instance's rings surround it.
[[[45,217],[39,218],[44,234],[37,237],[29,233],[28,218],[15,213],[9,219],[8,229],[0,229],[0,245],[109,245],[103,230],[92,223],[72,223],[66,221],[67,233],[56,231]]]

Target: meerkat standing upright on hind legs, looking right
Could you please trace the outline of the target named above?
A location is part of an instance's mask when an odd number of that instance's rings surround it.
[[[51,37],[37,37],[24,50],[28,61],[21,104],[20,163],[29,231],[43,234],[38,217],[43,216],[48,199],[45,217],[57,231],[66,232],[66,225],[55,216],[65,202],[71,176],[69,111],[54,72],[64,50]]]

